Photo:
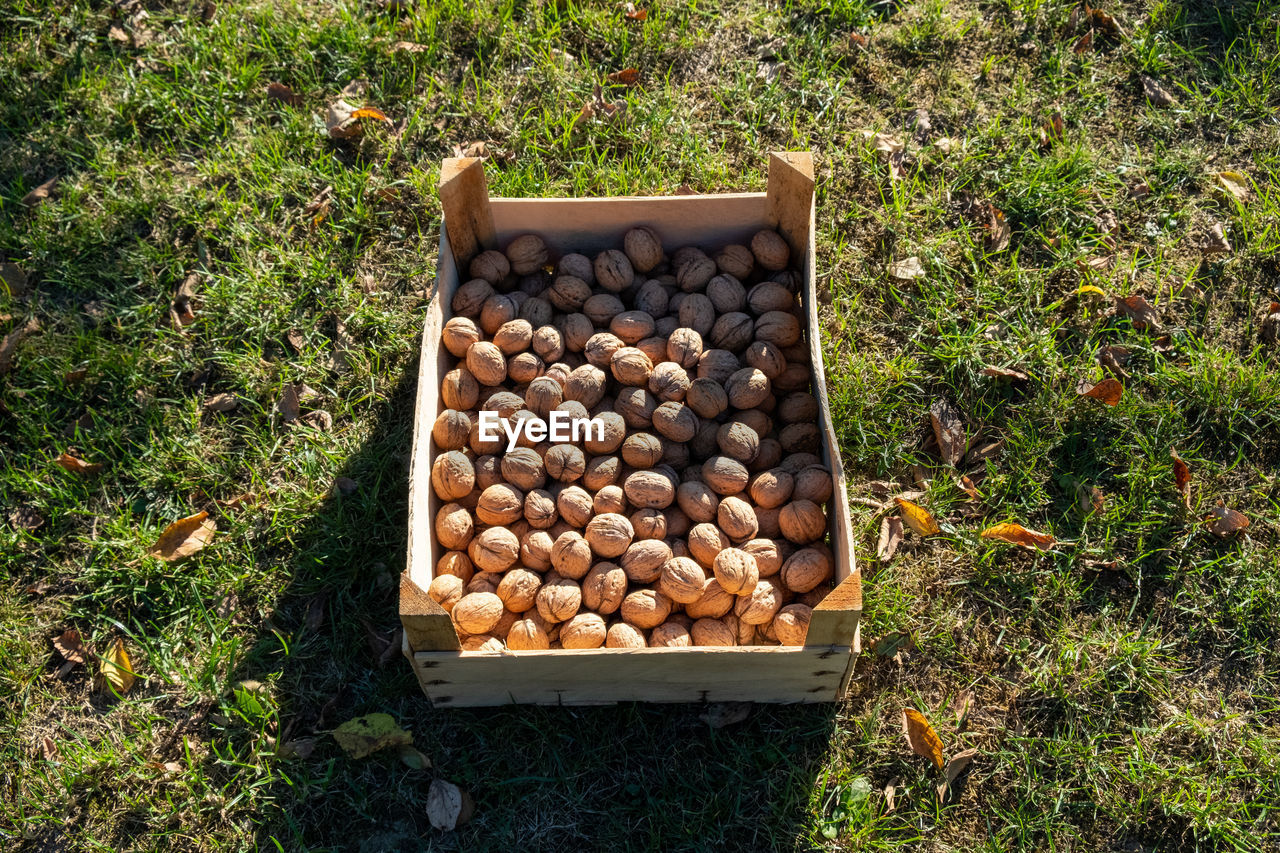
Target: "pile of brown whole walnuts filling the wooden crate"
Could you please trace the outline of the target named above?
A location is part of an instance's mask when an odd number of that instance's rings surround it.
[[[668,260],[640,227],[554,273],[534,234],[471,261],[443,334],[429,589],[463,649],[804,644],[832,478],[788,256],[762,231]],[[508,452],[480,410],[605,434]]]

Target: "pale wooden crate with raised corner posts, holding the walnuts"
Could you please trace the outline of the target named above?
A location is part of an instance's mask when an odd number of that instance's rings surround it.
[[[444,228],[436,293],[422,334],[410,474],[408,569],[401,578],[404,653],[433,704],[833,702],[844,694],[859,651],[861,585],[817,333],[813,200],[813,159],[808,152],[773,154],[768,192],[621,199],[490,199],[481,160],[444,161]],[[442,553],[433,524],[440,500],[430,483],[431,424],[440,411],[440,380],[449,366],[440,334],[460,284],[458,270],[466,269],[476,252],[504,247],[522,233],[541,236],[554,254],[590,256],[617,247],[623,232],[639,224],[654,228],[669,248],[746,243],[765,227],[777,228],[790,242],[804,274],[800,300],[806,313],[813,391],[822,407],[822,456],[835,478],[827,515],[836,588],[814,608],[804,647],[463,652],[448,613],[425,592]]]

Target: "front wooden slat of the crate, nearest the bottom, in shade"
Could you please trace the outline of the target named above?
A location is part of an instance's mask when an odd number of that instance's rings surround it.
[[[849,649],[645,648],[421,652],[436,707],[613,702],[833,702]]]

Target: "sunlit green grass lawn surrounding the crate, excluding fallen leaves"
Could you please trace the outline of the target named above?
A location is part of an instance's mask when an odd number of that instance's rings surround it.
[[[1057,0],[673,0],[643,24],[603,1],[229,1],[211,22],[200,5],[147,4],[154,37],[134,47],[108,31],[137,28],[141,5],[0,3],[0,261],[32,287],[0,295],[0,333],[42,325],[0,379],[0,848],[1280,845],[1280,350],[1261,334],[1280,298],[1274,0],[1111,6],[1124,37],[1083,54]],[[394,53],[402,40],[426,49]],[[626,120],[575,129],[625,67],[641,83],[607,92]],[[1139,73],[1178,104],[1147,104]],[[335,145],[324,108],[357,78],[396,132]],[[269,100],[271,81],[303,105]],[[910,137],[918,108],[929,142],[963,145],[911,142],[891,183],[863,131]],[[1062,138],[1042,147],[1055,111]],[[864,654],[847,702],[762,707],[718,731],[695,707],[435,712],[403,660],[379,666],[367,633],[397,620],[435,170],[474,141],[509,155],[486,169],[509,196],[762,190],[767,151],[814,151],[851,488],[910,484],[919,464],[947,526],[878,565],[878,520],[855,506],[864,639],[911,643]],[[1225,169],[1257,197],[1224,197]],[[54,175],[50,201],[19,202]],[[1005,211],[1006,251],[987,252],[965,199]],[[1087,273],[1078,261],[1108,252],[1105,211],[1116,263]],[[1213,223],[1234,252],[1202,260]],[[895,283],[887,264],[910,255],[928,274]],[[191,273],[196,321],[179,333],[169,302]],[[1108,311],[1132,293],[1158,332]],[[338,320],[347,369],[332,362]],[[1075,396],[1108,343],[1132,351],[1110,409]],[[1032,380],[997,384],[989,365]],[[330,429],[273,415],[291,382],[316,389]],[[218,392],[239,407],[202,414]],[[924,447],[940,396],[1005,441],[979,517]],[[65,450],[104,473],[55,467]],[[1171,451],[1194,475],[1190,511]],[[335,493],[337,476],[358,488]],[[1102,511],[1076,511],[1076,483],[1103,491]],[[256,507],[219,503],[243,492]],[[1247,537],[1204,532],[1217,500],[1248,515]],[[18,507],[44,525],[22,530]],[[218,521],[211,547],[146,556],[198,510]],[[1070,544],[978,537],[1006,520]],[[99,648],[125,638],[143,680],[120,701],[83,669],[59,680],[50,638],[72,626]],[[261,689],[236,690],[246,679]],[[979,751],[945,804],[902,740],[904,706],[948,753]],[[374,711],[434,768],[344,757],[328,733]],[[312,738],[306,758],[280,753]],[[434,776],[477,803],[453,835],[425,817]]]

